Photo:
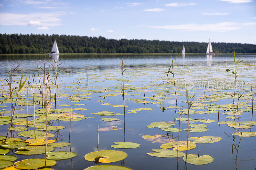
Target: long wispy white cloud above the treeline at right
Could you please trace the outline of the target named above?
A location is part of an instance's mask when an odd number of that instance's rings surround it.
[[[174,29],[180,31],[211,31],[211,32],[226,32],[231,30],[242,29],[241,26],[255,25],[255,22],[250,23],[235,23],[221,22],[215,24],[184,24],[184,25],[166,25],[166,26],[147,26],[149,28]]]

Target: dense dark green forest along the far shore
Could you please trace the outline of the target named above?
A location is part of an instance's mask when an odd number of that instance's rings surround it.
[[[177,42],[159,40],[115,40],[104,37],[75,35],[0,34],[0,54],[48,53],[54,40],[60,53],[205,53],[206,42]],[[215,53],[256,53],[255,44],[212,42]]]

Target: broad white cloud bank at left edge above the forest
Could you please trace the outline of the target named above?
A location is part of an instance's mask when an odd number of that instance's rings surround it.
[[[27,25],[41,25],[41,26],[59,26],[61,25],[60,16],[64,12],[51,13],[5,13],[0,12],[0,25],[5,26],[27,26]]]

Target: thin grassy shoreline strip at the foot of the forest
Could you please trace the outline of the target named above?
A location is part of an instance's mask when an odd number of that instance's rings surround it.
[[[180,53],[60,53],[60,55],[179,55]],[[205,53],[186,53],[186,55],[204,55]],[[216,53],[216,55],[220,54],[234,54],[234,53]],[[236,54],[252,54],[256,55],[256,53],[236,53]],[[48,54],[0,54],[3,55],[46,55]],[[206,54],[205,54],[206,55]]]

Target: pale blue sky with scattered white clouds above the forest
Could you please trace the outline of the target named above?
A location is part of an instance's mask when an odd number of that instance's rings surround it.
[[[0,33],[256,43],[256,0],[0,0]]]

